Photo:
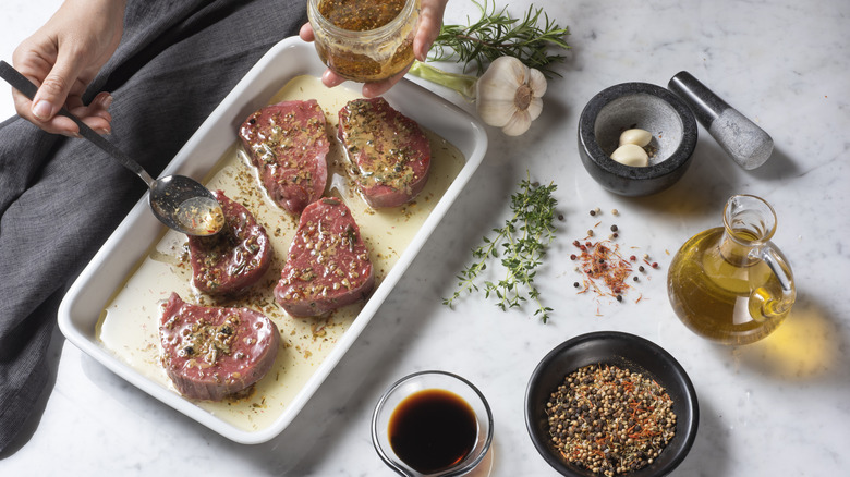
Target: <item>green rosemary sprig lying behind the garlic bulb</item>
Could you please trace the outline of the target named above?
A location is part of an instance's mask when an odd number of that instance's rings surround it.
[[[475,63],[481,75],[487,64],[502,56],[517,57],[529,68],[535,68],[547,78],[558,75],[551,70],[554,62],[563,61],[564,57],[552,54],[551,47],[569,49],[566,37],[569,27],[561,28],[543,9],[529,7],[522,20],[507,13],[507,7],[496,11],[496,0],[472,0],[481,10],[481,19],[467,26],[442,25],[440,34],[434,42],[430,59],[447,61],[458,59],[463,62],[463,71]],[[543,16],[543,19],[541,19]],[[538,22],[543,20],[543,26]],[[469,23],[469,19],[467,19]]]

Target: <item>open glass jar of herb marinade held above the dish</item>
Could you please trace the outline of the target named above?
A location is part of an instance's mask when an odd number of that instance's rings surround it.
[[[361,83],[401,73],[413,63],[420,1],[308,0],[307,16],[319,58],[338,75]],[[396,11],[400,12],[394,17],[371,24],[378,13]]]

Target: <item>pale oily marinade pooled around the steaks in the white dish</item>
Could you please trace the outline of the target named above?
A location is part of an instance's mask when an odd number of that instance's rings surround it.
[[[336,139],[337,112],[359,94],[343,87],[326,88],[319,78],[298,76],[290,81],[269,103],[288,99],[316,99],[325,111],[328,135],[328,188],[326,196],[340,197],[351,209],[369,247],[376,286],[422,228],[435,205],[463,168],[465,159],[453,145],[422,124],[432,147],[430,176],[414,203],[376,211],[356,192],[345,173],[345,158]],[[266,229],[272,243],[274,258],[269,272],[248,292],[235,299],[204,295],[192,282],[186,237],[168,230],[151,245],[136,269],[118,284],[96,333],[102,344],[119,359],[149,380],[177,392],[161,366],[159,354],[159,317],[161,303],[177,292],[190,303],[206,306],[246,306],[264,313],[280,330],[281,348],[272,369],[255,384],[247,397],[223,402],[192,401],[236,428],[255,431],[271,426],[293,402],[336,343],[356,318],[363,304],[351,305],[323,318],[298,319],[288,316],[275,302],[272,290],[286,261],[298,219],[279,208],[259,186],[256,171],[248,166],[233,132],[233,145],[224,151],[209,172],[205,185],[222,189],[233,200],[251,210]]]

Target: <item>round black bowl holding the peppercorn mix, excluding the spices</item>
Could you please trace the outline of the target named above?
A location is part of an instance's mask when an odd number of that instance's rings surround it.
[[[543,458],[561,475],[598,477],[561,457],[549,437],[546,403],[567,375],[588,365],[615,365],[641,372],[658,382],[673,402],[676,435],[654,462],[624,474],[628,477],[664,476],[684,460],[700,423],[696,392],[681,365],[657,344],[633,334],[599,331],[575,337],[558,345],[541,360],[525,391],[525,427]]]

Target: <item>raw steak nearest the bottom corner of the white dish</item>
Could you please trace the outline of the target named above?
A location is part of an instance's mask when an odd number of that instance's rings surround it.
[[[248,308],[190,305],[172,293],[159,325],[162,365],[186,397],[221,401],[243,391],[275,364],[280,332]]]

